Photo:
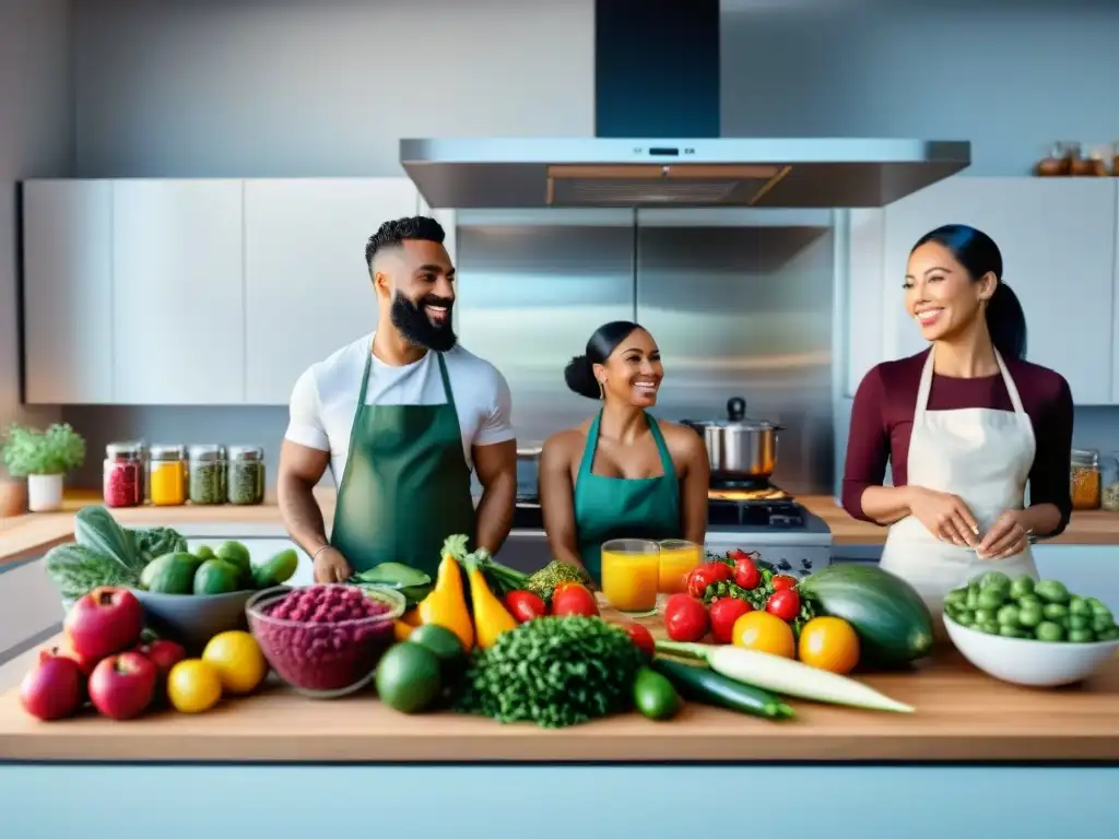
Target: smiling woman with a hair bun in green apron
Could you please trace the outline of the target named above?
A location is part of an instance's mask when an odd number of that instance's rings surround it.
[[[613,538],[687,539],[707,530],[709,466],[690,428],[658,422],[660,350],[637,323],[600,327],[564,370],[567,387],[601,402],[598,413],[544,443],[540,506],[556,559],[600,582],[600,547]]]

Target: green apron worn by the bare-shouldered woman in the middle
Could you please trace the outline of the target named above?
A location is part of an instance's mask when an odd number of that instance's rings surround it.
[[[591,422],[575,479],[575,528],[583,565],[602,579],[602,543],[610,539],[678,539],[680,486],[657,421],[646,414],[665,473],[658,478],[603,478],[592,474],[602,412]]]

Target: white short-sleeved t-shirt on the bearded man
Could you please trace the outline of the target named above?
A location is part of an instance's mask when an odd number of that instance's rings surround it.
[[[291,394],[291,418],[284,436],[293,443],[330,452],[330,471],[337,487],[341,487],[346,471],[361,374],[374,334],[311,365],[299,377]],[[462,453],[467,466],[473,470],[471,446],[504,443],[515,437],[509,384],[493,365],[461,346],[444,352],[443,360],[462,430]],[[446,404],[436,353],[426,352],[415,364],[404,367],[392,367],[374,356],[365,404]]]

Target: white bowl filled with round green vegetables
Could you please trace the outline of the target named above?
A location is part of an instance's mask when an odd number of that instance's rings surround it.
[[[1094,597],[1056,579],[987,572],[944,597],[956,649],[996,679],[1057,687],[1097,672],[1119,649],[1119,626]]]

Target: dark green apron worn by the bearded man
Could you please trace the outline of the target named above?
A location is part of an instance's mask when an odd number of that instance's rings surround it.
[[[355,573],[392,562],[434,579],[448,536],[473,543],[470,469],[446,362],[435,358],[445,404],[366,405],[372,348],[366,356],[330,534]]]

